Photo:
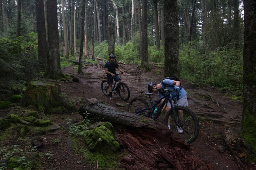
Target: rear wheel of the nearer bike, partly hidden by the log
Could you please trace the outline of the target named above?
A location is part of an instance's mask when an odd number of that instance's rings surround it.
[[[137,110],[141,110],[144,108],[149,108],[148,103],[142,98],[135,97],[129,103],[127,111],[130,113],[136,113]],[[140,115],[150,117],[150,112],[151,111],[148,110],[148,111],[145,111],[145,113],[141,113]],[[138,113],[136,113],[136,114],[138,114]]]

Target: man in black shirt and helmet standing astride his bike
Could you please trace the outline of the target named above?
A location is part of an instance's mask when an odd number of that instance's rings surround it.
[[[105,72],[107,73],[108,85],[109,85],[109,96],[110,100],[114,100],[112,96],[112,84],[116,74],[116,68],[125,75],[125,72],[119,68],[117,62],[115,62],[116,56],[114,54],[109,55],[109,61],[105,64]]]

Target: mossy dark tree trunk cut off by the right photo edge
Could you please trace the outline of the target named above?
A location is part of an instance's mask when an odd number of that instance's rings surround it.
[[[244,1],[244,73],[241,137],[252,145],[256,159],[256,1]]]

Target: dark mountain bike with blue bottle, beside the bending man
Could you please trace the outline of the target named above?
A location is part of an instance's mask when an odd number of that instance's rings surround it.
[[[181,138],[188,143],[195,141],[199,134],[199,122],[196,116],[188,108],[177,105],[176,101],[171,95],[173,90],[158,89],[158,91],[164,96],[156,101],[152,101],[151,99],[151,95],[155,94],[148,92],[145,93],[145,95],[149,96],[151,104],[150,106],[146,100],[142,98],[133,98],[128,105],[128,112],[143,115],[156,120],[164,110],[165,104],[167,104],[169,101],[171,103],[171,109],[165,115],[164,124],[168,126],[168,119],[170,119],[171,130],[177,129],[177,127],[182,128],[183,133],[179,133],[179,136],[181,136]],[[164,102],[160,104],[162,99],[164,99]],[[183,111],[183,118],[179,111]]]

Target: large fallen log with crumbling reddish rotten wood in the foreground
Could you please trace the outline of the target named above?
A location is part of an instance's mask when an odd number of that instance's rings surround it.
[[[80,114],[112,123],[118,142],[128,147],[135,160],[124,162],[126,169],[213,169],[187,142],[150,118],[100,103],[81,107]]]

